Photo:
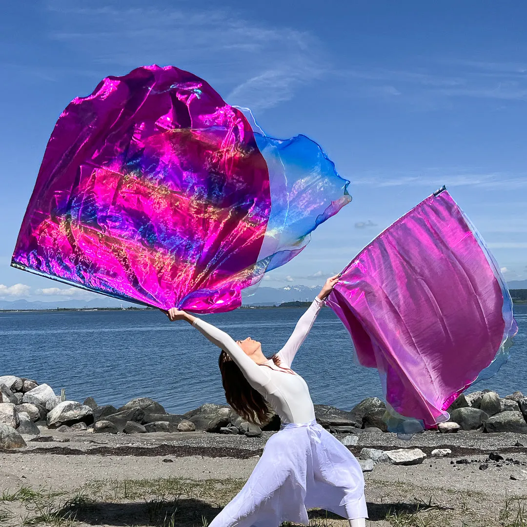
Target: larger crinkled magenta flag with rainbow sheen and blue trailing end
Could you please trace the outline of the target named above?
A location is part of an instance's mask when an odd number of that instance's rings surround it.
[[[140,67],[58,119],[14,267],[116,298],[228,311],[350,201],[317,143],[252,130],[196,75]]]

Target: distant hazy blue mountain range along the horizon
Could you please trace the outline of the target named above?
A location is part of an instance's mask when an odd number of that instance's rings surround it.
[[[510,289],[527,289],[527,280],[514,280],[509,282]],[[244,306],[274,306],[284,302],[306,302],[315,298],[321,286],[285,286],[280,288],[258,287],[254,294],[243,295]],[[95,308],[119,308],[119,307],[143,307],[131,302],[116,300],[114,298],[100,296],[93,300],[59,300],[55,302],[44,302],[41,300],[0,300],[0,310],[5,309],[95,309]]]

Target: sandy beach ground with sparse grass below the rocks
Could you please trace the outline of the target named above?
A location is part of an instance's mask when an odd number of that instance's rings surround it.
[[[198,433],[45,435],[51,440],[0,452],[0,525],[202,526],[247,480],[266,441]],[[365,474],[368,524],[527,527],[527,448],[514,446],[518,440],[527,438],[426,433],[404,442],[362,434],[351,448],[356,455],[363,446],[428,453],[420,465],[377,463]],[[430,457],[439,445],[453,454]],[[489,461],[490,452],[505,459]],[[468,462],[456,463],[462,459]],[[310,517],[313,525],[347,525],[325,511]]]

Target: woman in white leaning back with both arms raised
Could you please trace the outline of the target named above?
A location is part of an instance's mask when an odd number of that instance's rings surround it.
[[[220,370],[229,404],[252,422],[268,418],[269,405],[282,422],[267,442],[243,489],[210,527],[278,527],[284,521],[308,524],[307,510],[326,509],[362,527],[367,518],[364,479],[355,457],[315,421],[315,409],[302,377],[291,369],[296,352],[338,276],[326,284],[298,321],[286,345],[272,359],[261,344],[227,333],[177,309],[170,320],[187,320],[222,349]]]

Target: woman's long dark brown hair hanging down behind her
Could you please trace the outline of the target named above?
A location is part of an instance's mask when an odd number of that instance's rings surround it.
[[[272,357],[278,366],[280,359]],[[218,359],[225,398],[232,409],[249,423],[267,424],[273,413],[262,397],[241,373],[238,365],[222,350]]]

